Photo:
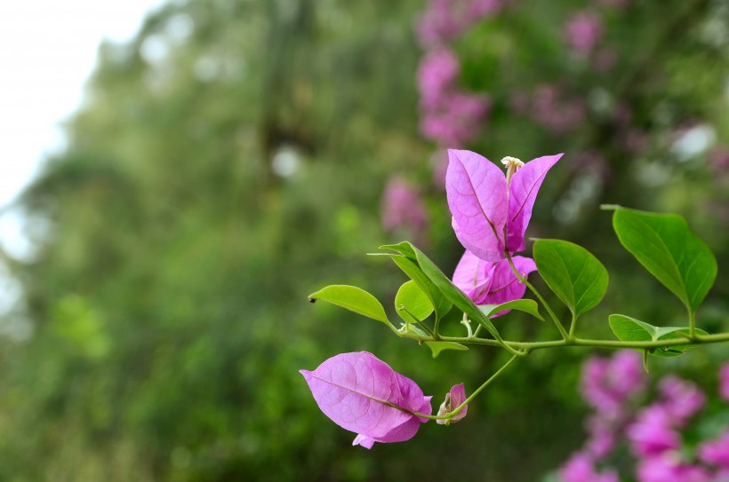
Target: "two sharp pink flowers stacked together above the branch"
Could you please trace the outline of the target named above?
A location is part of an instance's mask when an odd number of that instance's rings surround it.
[[[453,231],[466,252],[453,273],[453,284],[475,304],[501,304],[525,294],[506,253],[526,248],[524,236],[537,193],[562,154],[531,162],[504,158],[504,174],[493,162],[471,151],[449,149],[445,192]],[[522,277],[536,271],[533,260],[513,257]],[[508,311],[499,312],[496,315]]]

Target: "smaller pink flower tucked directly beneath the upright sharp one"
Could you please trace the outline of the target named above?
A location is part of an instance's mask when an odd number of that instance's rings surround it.
[[[529,257],[511,258],[517,271],[526,277],[537,270],[534,260]],[[475,304],[502,304],[524,296],[526,286],[511,270],[508,259],[498,263],[484,261],[470,251],[463,253],[453,273],[453,284],[466,293]],[[497,313],[505,314],[509,310]]]

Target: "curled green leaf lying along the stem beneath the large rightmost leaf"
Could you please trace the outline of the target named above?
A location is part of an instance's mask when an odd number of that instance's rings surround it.
[[[623,342],[657,342],[689,336],[689,328],[687,327],[654,327],[645,321],[636,320],[622,314],[612,314],[608,317],[608,321],[615,336]],[[704,330],[699,328],[696,328],[696,332],[699,335],[707,335]],[[691,350],[694,346],[693,344],[671,345],[657,348],[650,354],[657,357],[677,357],[683,355],[687,350]]]

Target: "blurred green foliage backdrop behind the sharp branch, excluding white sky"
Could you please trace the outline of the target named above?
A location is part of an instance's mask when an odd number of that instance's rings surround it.
[[[132,41],[100,47],[68,146],[6,208],[33,250],[0,253],[22,292],[0,320],[0,479],[547,477],[585,438],[588,352],[536,352],[462,423],[367,451],[300,368],[368,350],[439,400],[503,355],[433,360],[307,295],[353,284],[394,314],[404,275],[365,256],[390,241],[452,272],[445,147],[565,152],[528,234],[608,267],[581,333],[612,336],[612,312],[685,323],[605,202],[688,219],[719,265],[700,326],[729,329],[727,20],[725,0],[163,4]],[[498,323],[510,339],[557,335],[517,313]],[[653,372],[710,387],[726,359],[705,347]]]

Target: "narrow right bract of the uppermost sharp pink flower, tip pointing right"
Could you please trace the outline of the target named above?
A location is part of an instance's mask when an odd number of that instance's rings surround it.
[[[532,218],[534,200],[537,198],[541,181],[563,155],[545,155],[526,162],[524,167],[517,170],[511,178],[506,234],[506,246],[509,252],[523,251],[526,248],[524,233]]]

